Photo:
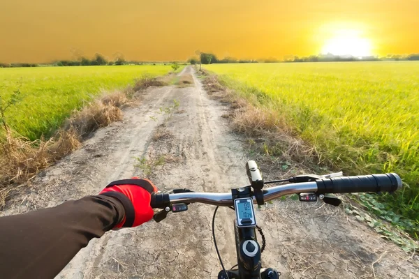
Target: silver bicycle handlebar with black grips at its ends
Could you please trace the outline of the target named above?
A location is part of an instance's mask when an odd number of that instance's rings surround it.
[[[395,192],[402,188],[402,179],[395,174],[370,174],[363,176],[343,176],[316,181],[289,183],[262,190],[263,200],[268,202],[284,195],[299,193],[360,193],[360,192]],[[151,206],[153,209],[165,209],[173,203],[212,204],[216,206],[233,206],[232,193],[154,193]],[[257,204],[253,195],[253,204]]]

